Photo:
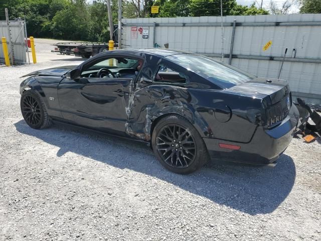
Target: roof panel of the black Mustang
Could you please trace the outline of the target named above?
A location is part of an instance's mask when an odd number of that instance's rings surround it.
[[[141,53],[147,53],[151,55],[157,55],[159,57],[167,57],[170,55],[176,55],[176,54],[194,54],[187,51],[182,50],[174,50],[174,49],[164,49],[164,48],[145,48],[145,49],[119,49],[119,50],[113,50],[113,53],[120,53],[120,54],[132,54],[132,55],[141,55]],[[105,54],[110,54],[111,52],[106,51]]]

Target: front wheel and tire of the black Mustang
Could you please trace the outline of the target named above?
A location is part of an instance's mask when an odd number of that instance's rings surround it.
[[[45,103],[35,90],[30,89],[22,93],[20,108],[22,116],[31,128],[44,129],[50,127],[51,119]]]

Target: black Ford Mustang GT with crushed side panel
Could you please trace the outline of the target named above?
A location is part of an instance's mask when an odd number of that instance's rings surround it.
[[[286,81],[194,53],[115,50],[25,76],[21,111],[31,128],[63,122],[151,143],[176,173],[210,156],[274,163],[298,123]]]

